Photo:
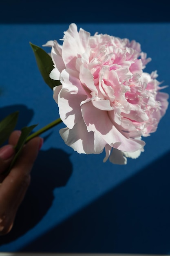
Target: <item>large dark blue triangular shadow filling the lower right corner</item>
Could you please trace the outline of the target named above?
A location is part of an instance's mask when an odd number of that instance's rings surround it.
[[[170,152],[21,252],[168,254]]]

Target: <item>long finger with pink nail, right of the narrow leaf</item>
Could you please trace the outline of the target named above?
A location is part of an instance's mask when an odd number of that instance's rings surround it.
[[[13,137],[10,138],[13,142]],[[14,136],[15,140],[15,136]],[[42,138],[29,141],[9,175],[0,185],[0,234],[7,234],[30,183],[30,172],[42,146]]]

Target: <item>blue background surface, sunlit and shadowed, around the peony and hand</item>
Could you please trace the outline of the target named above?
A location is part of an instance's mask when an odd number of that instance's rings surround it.
[[[59,40],[71,22],[92,35],[135,39],[152,58],[145,71],[157,70],[158,80],[170,85],[167,4],[103,4],[1,3],[0,119],[20,110],[20,129],[37,123],[42,128],[59,117],[29,42]],[[163,91],[170,94],[170,87]],[[170,254],[169,108],[144,139],[144,153],[126,166],[103,163],[104,153],[76,153],[62,141],[62,127],[43,134],[31,185],[12,231],[0,237],[0,252]]]

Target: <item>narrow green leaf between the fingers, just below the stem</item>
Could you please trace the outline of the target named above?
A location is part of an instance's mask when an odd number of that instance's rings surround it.
[[[11,165],[9,167],[8,173],[11,170],[13,164],[15,164],[16,159],[18,158],[18,156],[20,155],[20,152],[26,142],[26,138],[29,136],[30,132],[37,126],[37,124],[34,124],[32,126],[29,127],[24,127],[21,129],[21,135],[20,138],[18,140],[17,145],[15,146],[15,150],[16,150],[16,154],[11,162]],[[7,174],[7,173],[6,173]]]

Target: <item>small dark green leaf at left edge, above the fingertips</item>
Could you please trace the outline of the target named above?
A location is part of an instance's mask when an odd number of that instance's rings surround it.
[[[0,145],[2,145],[8,138],[18,121],[19,111],[16,111],[2,121],[0,121]]]

